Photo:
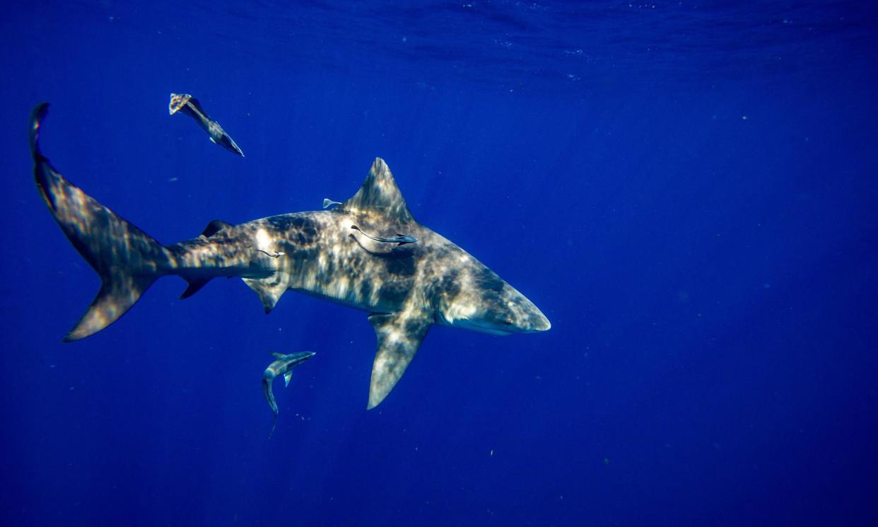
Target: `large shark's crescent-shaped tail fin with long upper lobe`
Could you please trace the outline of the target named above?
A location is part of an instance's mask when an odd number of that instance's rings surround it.
[[[156,278],[168,273],[173,256],[54,170],[40,152],[40,125],[48,107],[48,103],[38,105],[31,114],[33,177],[61,230],[101,278],[101,289],[89,310],[64,337],[74,341],[117,321]]]

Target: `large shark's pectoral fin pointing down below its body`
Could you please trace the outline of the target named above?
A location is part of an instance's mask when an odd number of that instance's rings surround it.
[[[372,409],[384,401],[387,393],[396,386],[418,352],[421,341],[434,316],[425,310],[406,310],[390,314],[371,314],[369,321],[378,336],[378,352],[372,365],[369,386],[369,406]]]

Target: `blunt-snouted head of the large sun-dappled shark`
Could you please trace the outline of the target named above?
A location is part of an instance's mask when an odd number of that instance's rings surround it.
[[[533,302],[484,265],[462,275],[449,294],[442,295],[438,310],[441,323],[492,335],[551,328],[549,319]]]

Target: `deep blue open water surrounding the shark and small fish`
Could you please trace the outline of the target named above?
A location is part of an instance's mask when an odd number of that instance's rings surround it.
[[[870,4],[143,4],[0,16],[0,523],[874,524]],[[434,328],[369,412],[365,314],[237,279],[61,343],[98,279],[33,184],[44,100],[55,167],[165,243],[381,156],[553,327]],[[317,355],[269,441],[270,350]]]

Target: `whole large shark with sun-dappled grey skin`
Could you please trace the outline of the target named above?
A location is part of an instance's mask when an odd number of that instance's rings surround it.
[[[39,146],[47,104],[32,113],[34,177],[61,230],[101,278],[101,289],[65,338],[106,328],[149,285],[177,275],[191,296],[209,280],[240,277],[268,313],[288,290],[362,309],[378,336],[368,408],[396,386],[434,324],[493,335],[551,327],[522,293],[479,260],[414,220],[380,158],[356,194],[331,210],[232,225],[211,221],[196,238],[164,246],[61,176]],[[417,243],[376,242],[407,233]]]

